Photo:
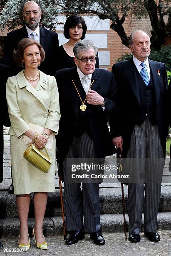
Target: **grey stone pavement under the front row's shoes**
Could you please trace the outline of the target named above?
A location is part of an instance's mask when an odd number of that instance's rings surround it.
[[[7,250],[17,250],[17,239],[3,239],[4,247],[0,250],[1,256],[119,256],[119,255],[137,255],[137,256],[164,256],[171,255],[171,230],[160,230],[161,241],[158,243],[150,242],[144,233],[140,233],[140,243],[125,242],[123,233],[105,233],[106,244],[97,246],[89,238],[78,241],[78,243],[67,246],[64,244],[63,236],[47,237],[49,244],[47,251],[38,249],[30,238],[31,247],[27,252],[7,252]],[[129,233],[127,233],[127,236]],[[6,250],[6,251],[5,251]]]

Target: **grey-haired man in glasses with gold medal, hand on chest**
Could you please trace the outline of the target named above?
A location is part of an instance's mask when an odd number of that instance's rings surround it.
[[[84,239],[90,233],[94,243],[103,245],[100,229],[99,184],[87,180],[74,183],[67,159],[97,159],[114,154],[114,145],[107,127],[106,114],[116,108],[114,75],[95,68],[97,46],[82,40],[74,45],[77,67],[57,71],[61,120],[57,149],[59,176],[64,181],[66,228],[70,236],[66,244]],[[100,172],[99,172],[100,174]],[[84,229],[83,216],[84,215]]]

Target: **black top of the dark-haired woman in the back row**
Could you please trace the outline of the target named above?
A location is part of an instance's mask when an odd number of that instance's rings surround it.
[[[56,61],[56,70],[60,69],[67,69],[76,67],[74,58],[69,56],[67,52],[64,50],[63,45],[57,48],[57,61]],[[99,57],[97,53],[97,60],[96,60],[96,68],[99,68]]]

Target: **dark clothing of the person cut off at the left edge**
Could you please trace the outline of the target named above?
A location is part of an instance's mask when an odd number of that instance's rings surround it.
[[[0,64],[0,87],[1,87],[1,92],[2,92],[2,123],[5,126],[10,126],[10,118],[8,115],[8,109],[7,109],[7,100],[6,100],[6,82],[8,78],[8,73],[9,73],[9,67]],[[3,135],[1,136],[1,147],[3,148]],[[3,180],[3,159],[1,159],[1,165],[0,165],[0,183]]]

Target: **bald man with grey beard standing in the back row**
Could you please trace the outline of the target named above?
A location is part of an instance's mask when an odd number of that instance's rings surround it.
[[[43,10],[37,1],[25,1],[20,10],[21,19],[24,25],[22,28],[7,33],[4,45],[3,64],[10,66],[11,75],[20,72],[13,58],[13,50],[17,49],[18,42],[22,38],[32,38],[39,42],[45,50],[45,60],[39,69],[45,74],[55,74],[54,54],[59,46],[57,33],[39,26]]]

